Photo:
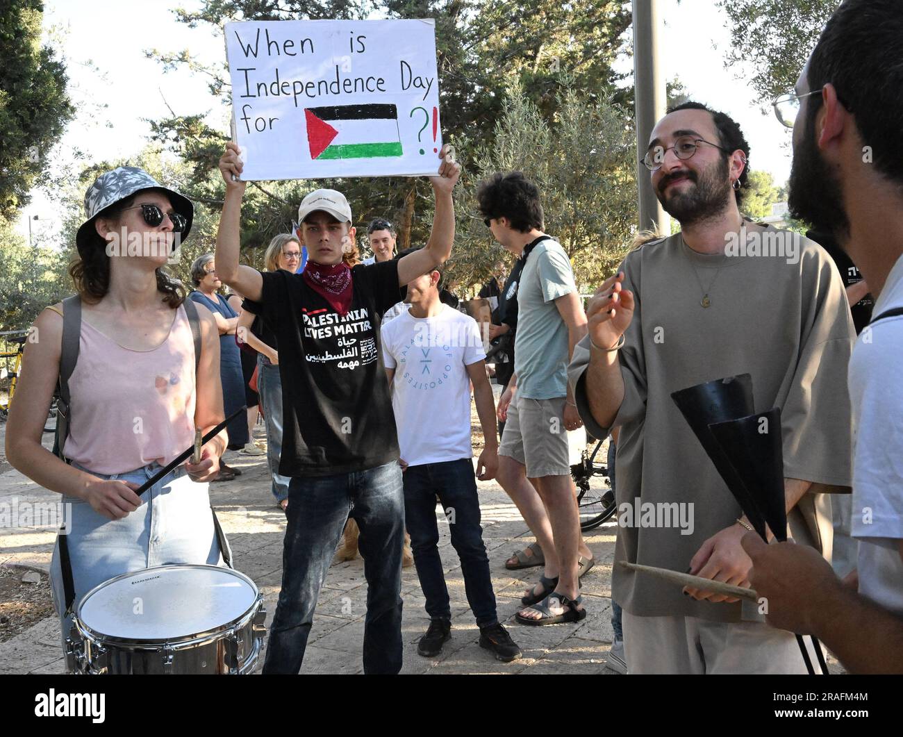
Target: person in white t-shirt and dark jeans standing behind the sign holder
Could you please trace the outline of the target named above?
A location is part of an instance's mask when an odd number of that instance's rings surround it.
[[[467,601],[479,626],[479,645],[504,662],[520,648],[498,622],[489,558],[479,525],[479,499],[470,443],[470,382],[483,428],[476,475],[498,469],[496,408],[486,374],[477,322],[439,298],[442,274],[434,270],[407,285],[410,309],[382,326],[383,361],[396,415],[405,484],[405,527],[426,598],[430,627],[417,652],[438,655],[451,638],[452,610],[439,555],[436,497],[461,559]]]

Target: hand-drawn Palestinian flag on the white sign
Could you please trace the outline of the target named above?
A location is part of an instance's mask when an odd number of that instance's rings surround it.
[[[304,117],[312,159],[402,155],[395,105],[305,107]]]

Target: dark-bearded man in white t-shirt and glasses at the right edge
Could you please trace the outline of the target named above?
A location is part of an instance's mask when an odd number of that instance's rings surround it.
[[[849,368],[857,571],[843,585],[811,548],[742,541],[768,621],[854,673],[903,673],[903,67],[889,59],[903,59],[899,0],[845,0],[786,98],[796,118],[776,101],[794,126],[791,213],[830,228],[877,298]]]

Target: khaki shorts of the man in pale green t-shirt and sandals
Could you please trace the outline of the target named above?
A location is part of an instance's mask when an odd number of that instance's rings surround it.
[[[515,394],[508,406],[505,433],[498,447],[526,466],[528,479],[570,476],[567,431],[564,429],[564,397],[526,399]]]

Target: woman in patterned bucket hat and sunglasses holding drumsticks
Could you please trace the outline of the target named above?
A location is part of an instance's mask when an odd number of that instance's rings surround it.
[[[71,612],[100,583],[159,564],[222,564],[221,550],[229,558],[207,488],[225,432],[200,462],[135,494],[195,428],[223,418],[216,322],[163,268],[191,229],[191,201],[119,167],[88,188],[85,212],[70,266],[78,294],[35,321],[6,432],[9,462],[66,510],[51,563],[64,641]],[[41,444],[58,382],[69,398],[59,457]]]

